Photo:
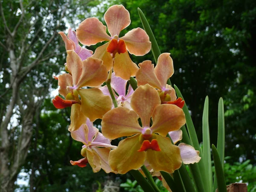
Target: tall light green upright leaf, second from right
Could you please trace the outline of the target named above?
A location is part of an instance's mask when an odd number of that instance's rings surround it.
[[[206,191],[212,191],[212,163],[211,163],[211,151],[210,151],[210,134],[209,134],[209,102],[208,96],[205,98],[204,111],[203,111],[203,154],[202,159],[204,163],[204,170],[202,170],[203,178],[205,182]]]

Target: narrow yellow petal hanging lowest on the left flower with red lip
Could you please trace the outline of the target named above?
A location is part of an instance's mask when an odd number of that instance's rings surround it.
[[[68,128],[69,131],[76,131],[80,128],[80,126],[86,123],[86,116],[80,111],[80,104],[73,104],[71,106],[71,115],[70,115],[70,126]]]

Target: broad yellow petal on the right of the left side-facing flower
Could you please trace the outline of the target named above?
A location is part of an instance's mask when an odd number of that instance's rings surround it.
[[[81,97],[81,112],[91,122],[102,119],[103,115],[111,110],[112,100],[110,96],[103,95],[99,88],[77,90]]]

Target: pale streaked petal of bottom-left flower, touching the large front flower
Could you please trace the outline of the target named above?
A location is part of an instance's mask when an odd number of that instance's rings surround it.
[[[93,148],[93,151],[95,151],[99,155],[99,158],[101,161],[101,168],[106,173],[113,172],[113,170],[111,169],[111,167],[108,164],[108,157],[109,157],[109,152],[111,151],[111,149],[110,148],[99,148],[99,147],[92,147],[92,148]]]

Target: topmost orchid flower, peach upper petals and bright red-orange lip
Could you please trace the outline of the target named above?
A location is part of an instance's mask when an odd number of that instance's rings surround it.
[[[90,17],[81,22],[79,28],[76,29],[77,38],[81,44],[87,46],[109,41],[98,47],[93,57],[102,59],[108,70],[113,67],[116,76],[129,80],[131,76],[135,76],[138,67],[131,61],[127,50],[137,56],[145,55],[151,49],[149,37],[143,29],[136,28],[119,38],[122,29],[131,23],[130,14],[122,5],[108,8],[104,19],[111,36],[106,33],[106,26],[99,19]]]

